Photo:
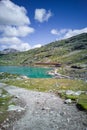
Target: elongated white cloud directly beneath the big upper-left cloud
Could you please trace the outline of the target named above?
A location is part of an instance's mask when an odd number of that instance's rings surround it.
[[[12,26],[3,26],[0,28],[3,33],[3,36],[8,37],[25,37],[28,34],[34,32],[34,28],[29,26],[19,26],[19,27],[12,27]]]

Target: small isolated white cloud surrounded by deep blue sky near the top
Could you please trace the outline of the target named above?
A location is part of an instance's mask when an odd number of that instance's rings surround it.
[[[46,11],[46,9],[36,9],[35,10],[35,20],[39,22],[48,21],[48,19],[52,16],[50,10]]]

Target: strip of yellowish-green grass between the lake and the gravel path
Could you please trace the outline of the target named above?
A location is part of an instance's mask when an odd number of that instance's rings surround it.
[[[87,83],[81,80],[70,79],[21,79],[21,80],[5,80],[5,83],[30,90],[41,92],[56,92],[58,90],[86,91]]]

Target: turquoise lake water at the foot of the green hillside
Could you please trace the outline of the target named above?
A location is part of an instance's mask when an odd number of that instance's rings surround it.
[[[51,68],[25,67],[25,66],[0,66],[0,72],[26,75],[30,78],[51,78],[48,74]]]

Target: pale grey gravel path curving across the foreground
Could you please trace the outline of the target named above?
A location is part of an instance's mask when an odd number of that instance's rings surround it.
[[[74,104],[67,105],[51,93],[14,86],[5,89],[26,103],[26,112],[11,130],[87,130],[87,114]]]

